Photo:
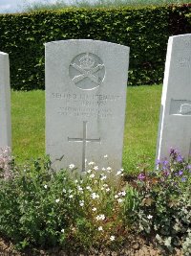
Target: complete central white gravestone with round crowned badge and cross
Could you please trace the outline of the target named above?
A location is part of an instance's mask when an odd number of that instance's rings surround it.
[[[96,40],[46,44],[46,151],[56,168],[121,167],[129,47]]]

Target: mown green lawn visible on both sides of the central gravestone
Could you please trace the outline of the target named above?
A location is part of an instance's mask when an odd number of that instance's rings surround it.
[[[153,167],[159,124],[161,86],[128,87],[123,167],[136,172],[138,163]],[[45,152],[44,91],[12,91],[12,151],[19,162]]]

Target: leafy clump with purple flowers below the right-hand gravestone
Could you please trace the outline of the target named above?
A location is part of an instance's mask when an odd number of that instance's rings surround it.
[[[182,244],[190,250],[190,185],[191,165],[175,150],[170,161],[158,162],[157,171],[138,175],[138,229],[155,238],[165,255]]]

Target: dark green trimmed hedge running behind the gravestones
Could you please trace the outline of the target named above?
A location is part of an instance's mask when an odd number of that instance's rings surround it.
[[[129,84],[163,80],[170,35],[191,33],[191,5],[65,9],[0,15],[0,50],[10,54],[11,88],[44,89],[44,43],[91,38],[130,46]]]

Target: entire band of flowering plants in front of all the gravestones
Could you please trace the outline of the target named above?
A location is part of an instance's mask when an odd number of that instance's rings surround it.
[[[138,177],[94,162],[83,175],[74,164],[55,172],[49,157],[18,166],[9,151],[0,154],[0,172],[0,233],[18,249],[117,249],[134,234],[164,255],[190,255],[191,165],[175,150]]]

